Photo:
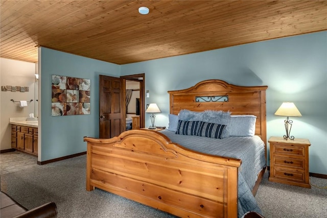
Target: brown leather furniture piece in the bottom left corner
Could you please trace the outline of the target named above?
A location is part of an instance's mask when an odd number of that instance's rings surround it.
[[[6,193],[1,191],[0,218],[55,218],[57,217],[57,206],[54,202],[43,204],[28,210],[17,203]]]

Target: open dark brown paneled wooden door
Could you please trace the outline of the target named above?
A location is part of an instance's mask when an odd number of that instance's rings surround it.
[[[124,131],[123,80],[116,77],[99,76],[99,137],[112,138]]]

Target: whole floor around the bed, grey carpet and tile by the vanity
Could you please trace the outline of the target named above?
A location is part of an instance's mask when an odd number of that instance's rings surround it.
[[[175,217],[100,189],[86,191],[86,155],[45,165],[36,160],[19,152],[0,156],[1,190],[29,209],[53,201],[58,218]],[[325,179],[310,179],[327,186]],[[327,189],[269,182],[267,172],[255,198],[266,218],[327,217]]]

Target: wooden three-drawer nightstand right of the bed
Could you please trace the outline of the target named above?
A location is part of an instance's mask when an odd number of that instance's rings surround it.
[[[270,137],[269,181],[311,188],[308,139]]]

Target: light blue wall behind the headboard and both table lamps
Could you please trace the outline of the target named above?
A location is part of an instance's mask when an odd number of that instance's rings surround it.
[[[312,144],[310,172],[327,174],[326,31],[121,66],[121,76],[141,72],[150,91],[146,104],[157,103],[162,111],[156,115],[157,126],[168,126],[168,90],[207,79],[267,85],[267,138],[284,135],[285,117],[274,112],[283,101],[294,102],[302,117],[292,117],[291,133]],[[146,126],[150,126],[147,115]]]

